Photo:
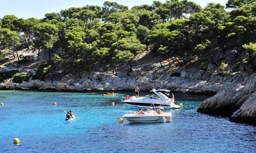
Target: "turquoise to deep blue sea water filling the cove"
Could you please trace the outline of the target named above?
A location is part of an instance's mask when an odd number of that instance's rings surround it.
[[[183,108],[171,122],[132,124],[118,119],[136,110],[121,102],[133,93],[101,94],[0,91],[0,152],[256,152],[255,126],[196,112],[208,96],[175,94]],[[63,110],[80,119],[65,121]]]

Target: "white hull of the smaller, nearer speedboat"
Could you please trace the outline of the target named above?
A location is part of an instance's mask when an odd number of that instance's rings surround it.
[[[168,115],[134,115],[134,114],[128,114],[123,116],[126,120],[128,120],[131,123],[153,123],[153,122],[169,122],[172,120],[172,114]]]

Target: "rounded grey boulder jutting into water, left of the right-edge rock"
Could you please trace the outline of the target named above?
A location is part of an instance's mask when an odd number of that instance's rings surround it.
[[[211,98],[205,99],[197,109],[197,112],[231,115],[234,111],[252,95],[250,92],[239,92],[233,90],[222,90]]]

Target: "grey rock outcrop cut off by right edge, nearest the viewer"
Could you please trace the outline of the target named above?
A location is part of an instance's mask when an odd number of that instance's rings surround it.
[[[256,93],[252,94],[243,105],[232,114],[230,121],[256,123]]]

